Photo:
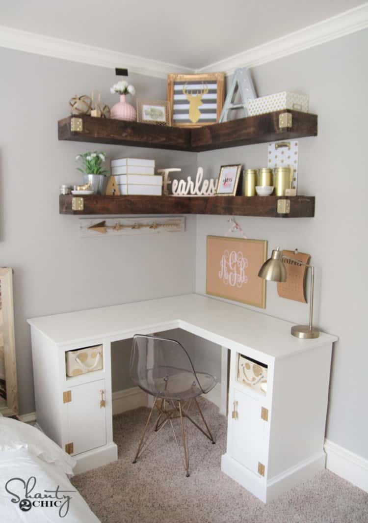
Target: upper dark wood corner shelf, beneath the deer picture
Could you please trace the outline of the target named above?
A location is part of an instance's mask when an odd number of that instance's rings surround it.
[[[68,116],[59,120],[58,125],[59,140],[191,152],[317,135],[317,115],[289,109],[193,129],[86,115]]]

